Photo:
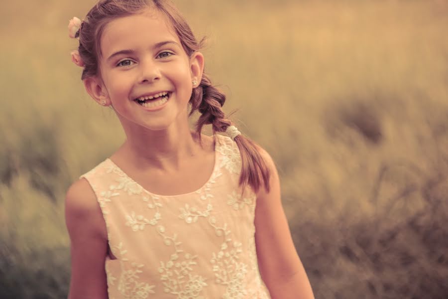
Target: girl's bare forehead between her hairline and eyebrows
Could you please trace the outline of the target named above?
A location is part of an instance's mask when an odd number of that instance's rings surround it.
[[[101,52],[105,58],[123,49],[148,48],[162,41],[179,37],[161,13],[145,12],[116,18],[109,22],[101,36]]]

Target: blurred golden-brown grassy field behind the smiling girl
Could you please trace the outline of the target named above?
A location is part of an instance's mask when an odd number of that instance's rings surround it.
[[[65,192],[124,140],[70,60],[94,2],[2,2],[2,299],[67,296]],[[448,298],[448,2],[175,2],[277,163],[316,298]]]

